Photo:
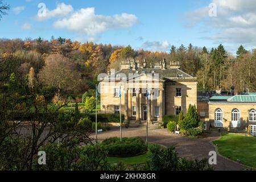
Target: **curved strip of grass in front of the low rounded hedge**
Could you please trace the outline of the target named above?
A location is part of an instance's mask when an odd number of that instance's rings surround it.
[[[127,165],[143,164],[143,163],[146,163],[146,161],[149,159],[150,155],[151,155],[151,152],[148,151],[144,155],[139,155],[139,156],[130,157],[130,158],[110,158],[109,157],[109,162],[112,164],[118,164],[118,163],[122,162]]]

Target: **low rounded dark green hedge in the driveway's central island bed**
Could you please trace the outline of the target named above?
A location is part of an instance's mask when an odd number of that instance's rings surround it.
[[[147,145],[139,137],[135,138],[108,138],[102,142],[102,145],[108,150],[108,156],[113,157],[131,157],[146,154]]]

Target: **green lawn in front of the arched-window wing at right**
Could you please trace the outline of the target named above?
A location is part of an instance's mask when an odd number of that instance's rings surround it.
[[[242,164],[256,168],[256,138],[245,137],[239,134],[223,134],[217,144],[221,155],[234,161],[240,160]]]

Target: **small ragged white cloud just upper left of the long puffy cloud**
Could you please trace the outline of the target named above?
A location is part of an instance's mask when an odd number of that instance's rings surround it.
[[[45,16],[38,14],[36,15],[36,19],[47,20],[47,19],[56,18],[56,17],[63,17],[63,16],[69,15],[72,12],[73,12],[73,7],[71,5],[65,5],[65,3],[58,3],[56,9],[48,10],[46,8]]]

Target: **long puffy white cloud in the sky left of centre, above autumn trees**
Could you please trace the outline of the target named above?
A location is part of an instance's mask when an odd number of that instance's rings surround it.
[[[94,7],[88,7],[75,11],[68,18],[57,20],[53,23],[53,27],[78,32],[92,39],[104,31],[128,28],[136,23],[138,23],[138,19],[133,14],[123,13],[113,16],[97,15],[95,14]]]

